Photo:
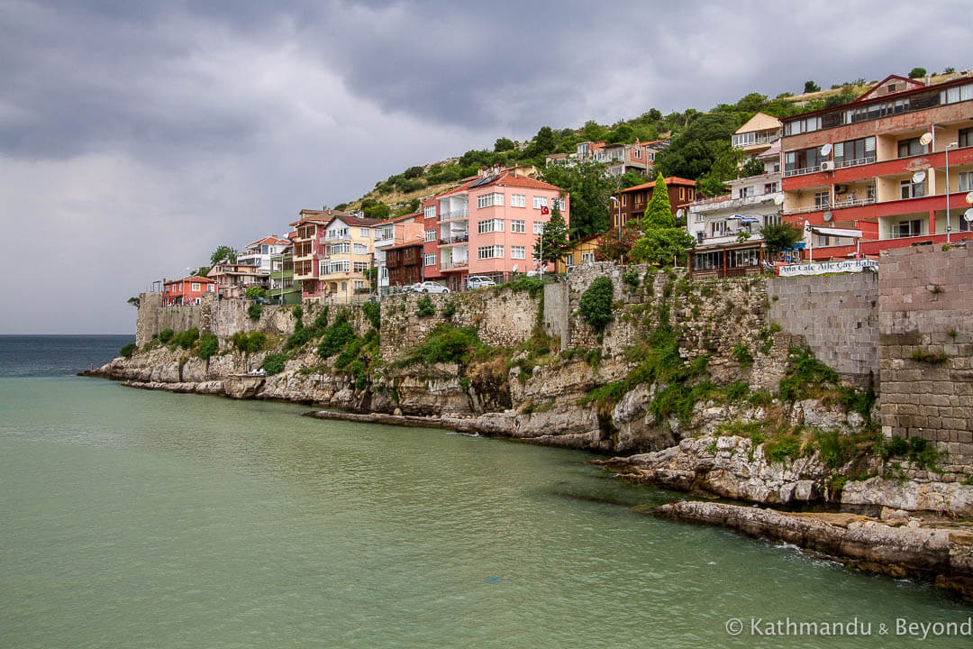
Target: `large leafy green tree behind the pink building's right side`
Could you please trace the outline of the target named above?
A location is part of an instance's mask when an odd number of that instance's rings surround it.
[[[571,195],[571,239],[585,238],[608,230],[611,211],[609,199],[615,180],[605,173],[605,165],[579,161],[574,166],[550,164],[541,170],[541,179]]]

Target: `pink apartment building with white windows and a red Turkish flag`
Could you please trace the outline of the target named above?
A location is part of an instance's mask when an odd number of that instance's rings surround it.
[[[506,278],[536,270],[534,243],[556,203],[565,224],[569,219],[568,197],[519,167],[485,170],[434,200],[439,241],[434,258],[426,251],[425,264],[438,266],[450,290],[465,288],[468,275]]]

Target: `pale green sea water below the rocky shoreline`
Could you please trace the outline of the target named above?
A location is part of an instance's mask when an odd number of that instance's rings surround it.
[[[681,496],[586,453],[305,410],[0,377],[0,647],[914,646],[896,618],[973,614],[634,514]],[[750,631],[856,617],[871,635]]]

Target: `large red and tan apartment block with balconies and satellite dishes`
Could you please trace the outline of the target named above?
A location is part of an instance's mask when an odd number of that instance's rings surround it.
[[[784,220],[805,230],[806,259],[973,238],[963,218],[973,190],[967,75],[935,86],[892,75],[850,103],[782,122]]]

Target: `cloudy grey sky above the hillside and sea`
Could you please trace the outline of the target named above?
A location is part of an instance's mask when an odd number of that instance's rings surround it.
[[[218,245],[285,234],[302,208],[500,136],[967,69],[967,14],[900,0],[0,0],[14,270],[0,334],[130,333],[127,298]]]

